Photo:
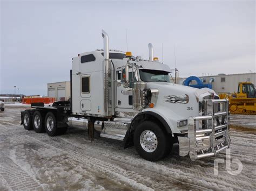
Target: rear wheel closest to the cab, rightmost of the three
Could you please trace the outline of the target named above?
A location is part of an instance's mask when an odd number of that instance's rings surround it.
[[[52,112],[48,112],[45,116],[44,128],[46,133],[49,136],[56,136],[58,134],[57,131],[57,120]]]

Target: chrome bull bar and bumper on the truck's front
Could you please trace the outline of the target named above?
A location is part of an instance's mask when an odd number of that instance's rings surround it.
[[[204,100],[203,102],[204,115],[189,117],[187,137],[178,137],[180,155],[189,154],[193,161],[214,156],[230,147],[228,100]]]

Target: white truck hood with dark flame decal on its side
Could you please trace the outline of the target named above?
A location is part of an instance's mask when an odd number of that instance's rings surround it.
[[[158,91],[151,98],[154,107],[144,111],[162,116],[173,133],[187,130],[187,126],[178,128],[178,121],[199,116],[199,101],[202,101],[203,97],[211,96],[212,93],[216,95],[212,89],[197,89],[169,82],[148,82],[147,89],[158,89]]]

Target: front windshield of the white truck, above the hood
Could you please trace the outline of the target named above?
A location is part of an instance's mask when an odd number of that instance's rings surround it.
[[[144,82],[171,82],[169,72],[162,70],[140,69],[139,74]]]

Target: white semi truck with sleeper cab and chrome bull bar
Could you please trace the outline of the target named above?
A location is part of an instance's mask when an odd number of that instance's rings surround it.
[[[109,49],[78,54],[72,59],[71,100],[45,107],[31,104],[22,112],[26,130],[46,131],[49,136],[82,126],[93,139],[100,137],[135,146],[150,161],[163,159],[179,143],[179,154],[191,160],[211,157],[230,147],[228,100],[213,90],[171,83],[169,66],[153,58]]]

